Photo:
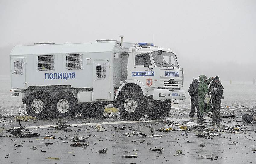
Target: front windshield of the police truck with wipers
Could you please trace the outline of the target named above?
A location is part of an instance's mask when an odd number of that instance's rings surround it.
[[[156,66],[158,67],[163,66],[163,63],[166,65],[170,65],[170,63],[172,63],[171,67],[179,67],[178,62],[174,56],[174,53],[172,52],[162,52],[161,55],[157,55],[157,52],[152,52],[152,56]]]

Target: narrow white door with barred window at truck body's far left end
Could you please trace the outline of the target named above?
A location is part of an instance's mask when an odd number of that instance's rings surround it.
[[[26,58],[11,58],[11,87],[25,88],[26,86]]]

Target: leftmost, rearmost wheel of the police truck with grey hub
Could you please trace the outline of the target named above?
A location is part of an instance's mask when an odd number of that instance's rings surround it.
[[[50,96],[42,94],[31,96],[26,104],[27,114],[37,118],[47,118],[51,115],[51,100]]]

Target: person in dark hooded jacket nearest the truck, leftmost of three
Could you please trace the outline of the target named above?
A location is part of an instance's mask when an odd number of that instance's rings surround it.
[[[198,103],[198,79],[194,79],[192,81],[192,84],[190,84],[190,87],[188,89],[188,94],[190,97],[190,106],[191,110],[189,112],[189,117],[194,118],[194,113],[195,113],[195,107],[197,111],[197,116],[199,117],[199,103]]]

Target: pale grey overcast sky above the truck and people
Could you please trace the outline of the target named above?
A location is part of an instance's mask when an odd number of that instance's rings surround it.
[[[185,79],[256,78],[256,1],[0,0],[0,74],[9,74],[14,45],[153,42],[172,49]]]

